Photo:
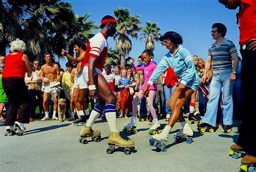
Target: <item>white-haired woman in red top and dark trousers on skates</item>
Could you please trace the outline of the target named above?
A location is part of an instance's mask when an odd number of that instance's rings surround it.
[[[6,135],[23,135],[24,123],[29,123],[30,97],[24,82],[25,72],[31,77],[29,58],[24,54],[26,45],[16,39],[10,43],[10,54],[6,56],[3,71],[3,88],[9,99],[10,107],[4,121]]]

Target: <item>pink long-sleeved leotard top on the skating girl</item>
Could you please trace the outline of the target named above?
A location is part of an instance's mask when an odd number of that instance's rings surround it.
[[[146,85],[147,85],[147,82],[149,81],[149,78],[150,76],[152,75],[154,69],[157,68],[157,64],[153,63],[152,61],[149,63],[149,64],[144,64],[143,66],[141,67],[136,67],[134,66],[134,64],[132,64],[132,67],[135,71],[139,71],[139,70],[143,70],[144,71],[144,84],[142,85],[142,88],[141,90],[143,90]],[[157,84],[156,83],[153,83],[150,87],[149,87],[149,90],[154,90],[154,91],[158,91],[157,90]]]

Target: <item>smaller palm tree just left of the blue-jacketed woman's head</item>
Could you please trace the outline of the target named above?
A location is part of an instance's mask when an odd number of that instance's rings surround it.
[[[160,27],[157,27],[157,23],[152,23],[151,21],[146,21],[146,27],[142,26],[142,32],[140,40],[143,39],[145,42],[145,48],[151,49],[152,51],[156,48],[154,41],[159,41],[161,30]]]

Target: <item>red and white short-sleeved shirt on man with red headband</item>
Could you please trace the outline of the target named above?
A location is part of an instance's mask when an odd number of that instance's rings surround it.
[[[82,66],[88,66],[90,56],[97,58],[95,67],[103,71],[107,56],[107,40],[104,33],[99,32],[87,42],[85,58]]]

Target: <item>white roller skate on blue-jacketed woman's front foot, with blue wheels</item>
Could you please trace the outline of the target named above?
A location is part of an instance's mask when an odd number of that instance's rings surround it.
[[[163,152],[166,152],[166,143],[168,140],[168,134],[171,131],[171,127],[169,125],[166,125],[163,132],[160,134],[153,135],[150,141],[150,146],[156,147],[158,150],[161,150]]]

